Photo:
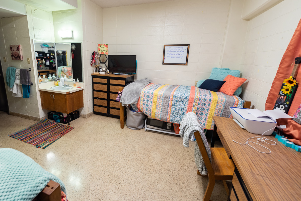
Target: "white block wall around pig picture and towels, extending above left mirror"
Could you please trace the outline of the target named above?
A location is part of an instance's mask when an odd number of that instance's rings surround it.
[[[30,79],[33,85],[30,86],[29,98],[12,97],[11,92],[7,91],[9,110],[41,118],[47,115],[47,111],[42,110],[40,94],[36,87],[37,68],[31,39],[54,41],[52,13],[38,10],[36,15],[33,13],[33,8],[28,5],[26,5],[26,13],[27,16],[1,18],[0,57],[4,74],[8,66],[32,68]],[[11,59],[9,45],[21,45],[23,61]],[[4,62],[3,57],[6,57],[7,62]],[[30,58],[30,64],[27,63],[27,58]],[[7,86],[5,88],[7,89]]]

